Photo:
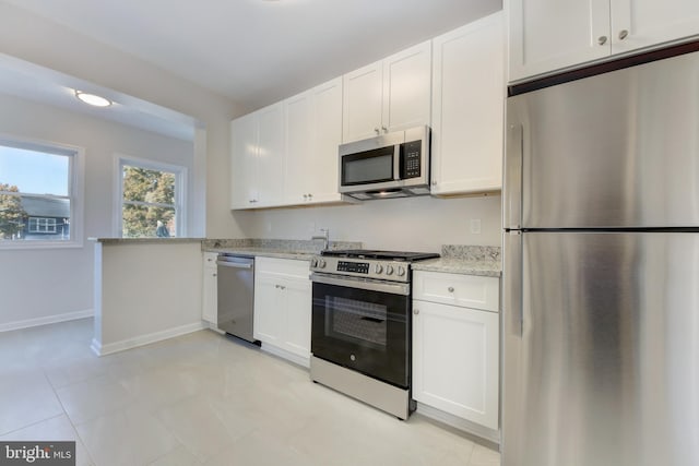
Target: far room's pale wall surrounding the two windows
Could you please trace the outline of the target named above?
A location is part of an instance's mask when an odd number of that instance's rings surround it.
[[[111,237],[115,153],[182,165],[193,145],[106,120],[0,94],[0,132],[85,150],[83,238]],[[0,330],[93,309],[93,250],[0,250]],[[67,315],[63,315],[67,316]]]

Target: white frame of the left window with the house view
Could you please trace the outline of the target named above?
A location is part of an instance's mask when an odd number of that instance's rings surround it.
[[[57,196],[51,194],[36,194],[26,192],[23,194],[46,199],[68,199],[70,201],[70,239],[62,240],[0,240],[0,250],[13,249],[66,249],[82,248],[84,246],[84,177],[85,177],[85,148],[51,141],[43,141],[32,138],[22,138],[13,134],[0,133],[0,145],[26,151],[44,152],[47,154],[69,157],[68,195]],[[22,193],[21,193],[22,194]]]

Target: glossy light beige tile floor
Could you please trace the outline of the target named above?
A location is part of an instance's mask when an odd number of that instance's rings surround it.
[[[497,452],[407,421],[201,331],[97,358],[91,319],[0,333],[0,439],[75,440],[79,465],[498,466]]]

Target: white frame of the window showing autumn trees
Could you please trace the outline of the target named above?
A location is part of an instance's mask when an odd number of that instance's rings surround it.
[[[123,238],[123,167],[137,167],[146,170],[167,171],[175,175],[175,229],[177,238],[187,237],[187,167],[157,160],[138,158],[125,154],[115,154],[115,237]],[[157,237],[146,237],[157,239]]]

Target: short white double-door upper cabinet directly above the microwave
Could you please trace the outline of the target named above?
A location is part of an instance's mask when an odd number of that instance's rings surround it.
[[[343,141],[429,124],[431,43],[411,47],[343,77]]]

